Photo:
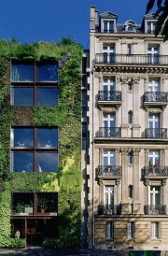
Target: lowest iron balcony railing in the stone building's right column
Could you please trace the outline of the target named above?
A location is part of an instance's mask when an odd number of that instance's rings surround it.
[[[146,205],[144,206],[144,213],[147,215],[166,214],[165,205]]]

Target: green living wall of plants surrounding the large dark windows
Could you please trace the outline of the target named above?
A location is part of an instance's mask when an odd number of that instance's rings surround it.
[[[59,239],[44,245],[80,245],[80,109],[82,48],[70,38],[60,43],[41,41],[19,44],[0,40],[0,247],[11,246],[10,192],[59,192]],[[10,60],[59,61],[57,107],[10,106]],[[61,61],[61,62],[60,62]],[[11,125],[58,125],[59,170],[57,173],[12,173],[10,171]],[[69,239],[73,237],[74,239]]]

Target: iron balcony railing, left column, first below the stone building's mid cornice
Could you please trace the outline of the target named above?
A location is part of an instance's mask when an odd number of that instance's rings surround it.
[[[96,174],[97,176],[121,176],[122,168],[119,165],[98,165]]]

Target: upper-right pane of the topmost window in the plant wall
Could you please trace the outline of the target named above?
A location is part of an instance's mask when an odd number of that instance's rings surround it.
[[[37,81],[57,81],[58,71],[56,64],[37,66]]]

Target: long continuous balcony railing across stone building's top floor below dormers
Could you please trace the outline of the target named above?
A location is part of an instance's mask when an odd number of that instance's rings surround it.
[[[97,53],[96,64],[168,64],[168,55]]]

